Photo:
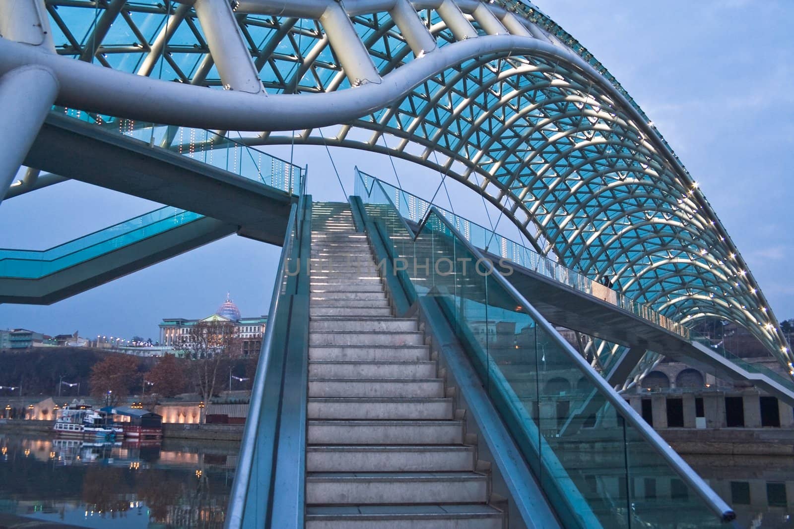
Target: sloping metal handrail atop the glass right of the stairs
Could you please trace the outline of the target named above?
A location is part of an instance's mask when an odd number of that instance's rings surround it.
[[[487,258],[482,255],[482,252],[480,252],[476,247],[472,246],[472,243],[469,243],[468,240],[461,235],[461,232],[459,232],[457,228],[455,228],[455,226],[436,209],[435,206],[430,206],[430,209],[434,211],[436,216],[441,219],[441,222],[445,224],[447,228],[449,228],[453,235],[464,244],[464,247],[466,247],[468,251],[472,252],[472,255],[475,255],[478,259],[487,260]],[[573,350],[571,344],[568,343],[559,332],[557,332],[557,329],[555,329],[552,324],[549,324],[549,322],[545,320],[541,313],[538,312],[538,310],[535,309],[534,306],[531,305],[530,302],[518,292],[517,289],[515,289],[515,286],[511,285],[511,282],[507,281],[507,279],[505,279],[503,275],[499,273],[499,270],[494,268],[491,275],[496,279],[497,282],[499,282],[500,286],[502,286],[504,289],[507,289],[507,292],[510,293],[514,297],[515,301],[518,302],[518,305],[522,307],[522,310],[526,311],[528,315],[534,319],[535,324],[540,326],[545,332],[547,332],[552,336],[553,339],[557,341],[557,345],[561,346],[562,350],[565,351],[569,358],[572,359],[577,366],[579,366],[584,376],[588,378],[588,380],[591,381],[596,388],[600,389],[599,393],[601,393],[603,397],[605,397],[606,400],[615,407],[615,409],[621,412],[621,416],[624,420],[636,428],[643,438],[645,438],[648,443],[657,449],[657,452],[661,455],[661,457],[664,458],[665,461],[677,471],[679,476],[684,479],[684,481],[691,486],[692,489],[695,489],[696,493],[698,493],[698,496],[700,496],[703,501],[706,502],[708,507],[711,508],[713,512],[715,512],[724,521],[730,521],[736,517],[733,509],[731,509],[728,504],[725,503],[725,500],[711,490],[711,487],[709,487],[707,483],[703,481],[703,478],[700,477],[694,470],[692,470],[687,462],[685,462],[684,459],[681,458],[681,456],[677,454],[676,451],[673,450],[669,444],[666,443],[665,440],[662,439],[655,430],[653,430],[652,427],[650,427],[644,420],[641,420],[637,416],[636,412],[634,412],[630,405],[626,403],[626,401],[624,401],[618,393],[615,393],[615,389],[612,389],[612,387],[607,383],[606,379],[596,373],[595,370],[593,370],[592,367],[585,362],[584,358],[582,358],[581,355]]]

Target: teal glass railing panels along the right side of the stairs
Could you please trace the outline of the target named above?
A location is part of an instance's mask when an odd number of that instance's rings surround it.
[[[542,316],[431,209],[414,240],[391,197],[368,216],[435,297],[500,416],[568,527],[719,527],[732,512]],[[384,201],[384,197],[388,200]],[[395,266],[395,269],[399,266]]]

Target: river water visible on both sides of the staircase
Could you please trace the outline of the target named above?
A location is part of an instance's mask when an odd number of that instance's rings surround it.
[[[223,527],[237,443],[92,444],[0,432],[0,527]],[[794,529],[794,458],[685,457],[739,527]]]

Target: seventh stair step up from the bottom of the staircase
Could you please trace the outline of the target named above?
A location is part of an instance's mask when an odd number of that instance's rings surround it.
[[[309,362],[310,378],[435,378],[436,362]]]

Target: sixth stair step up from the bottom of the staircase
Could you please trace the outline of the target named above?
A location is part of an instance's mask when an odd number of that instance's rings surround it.
[[[444,397],[441,378],[310,378],[309,397]]]

